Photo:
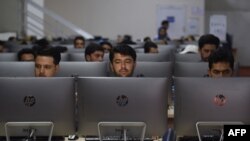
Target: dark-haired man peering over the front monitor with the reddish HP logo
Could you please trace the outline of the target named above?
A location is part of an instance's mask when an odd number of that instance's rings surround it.
[[[234,71],[234,56],[231,50],[220,47],[208,59],[209,77],[231,77]]]

